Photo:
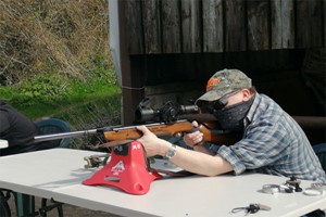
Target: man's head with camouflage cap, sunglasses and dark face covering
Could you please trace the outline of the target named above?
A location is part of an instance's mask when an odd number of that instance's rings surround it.
[[[213,114],[221,129],[240,131],[243,118],[253,102],[255,89],[251,79],[238,69],[215,73],[208,81],[206,92],[197,100],[202,112]]]

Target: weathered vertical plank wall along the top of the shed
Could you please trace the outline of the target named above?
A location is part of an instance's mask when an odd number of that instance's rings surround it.
[[[129,54],[325,47],[325,0],[127,0]]]

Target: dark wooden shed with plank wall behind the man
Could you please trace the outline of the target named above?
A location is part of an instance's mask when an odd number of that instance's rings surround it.
[[[325,89],[326,0],[110,0],[109,8],[124,124],[145,97],[153,107],[189,103],[223,68],[244,72],[291,115],[325,116],[302,68],[308,51],[319,52]]]

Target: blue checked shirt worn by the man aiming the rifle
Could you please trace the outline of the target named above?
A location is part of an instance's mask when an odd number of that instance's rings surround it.
[[[243,138],[234,145],[222,145],[217,155],[233,165],[236,175],[253,170],[326,182],[325,171],[303,130],[264,94],[256,93],[244,118]]]

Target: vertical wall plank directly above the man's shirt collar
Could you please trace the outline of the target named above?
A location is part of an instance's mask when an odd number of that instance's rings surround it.
[[[268,0],[247,1],[248,50],[269,49]]]

